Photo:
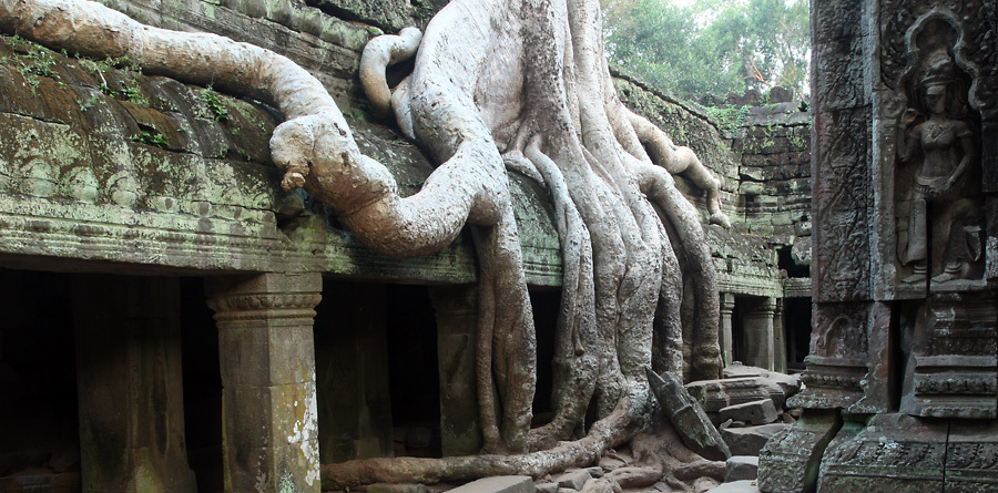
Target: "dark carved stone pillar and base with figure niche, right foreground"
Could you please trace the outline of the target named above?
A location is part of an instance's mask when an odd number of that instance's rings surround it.
[[[998,2],[831,0],[812,22],[815,323],[760,489],[994,491]]]

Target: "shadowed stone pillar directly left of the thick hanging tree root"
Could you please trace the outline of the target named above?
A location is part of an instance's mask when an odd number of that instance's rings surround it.
[[[475,345],[478,287],[430,288],[437,315],[437,358],[440,372],[440,441],[445,456],[481,451]]]

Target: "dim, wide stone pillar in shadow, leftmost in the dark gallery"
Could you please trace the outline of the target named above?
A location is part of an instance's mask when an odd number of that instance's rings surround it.
[[[73,276],[84,492],[193,492],[176,279]]]

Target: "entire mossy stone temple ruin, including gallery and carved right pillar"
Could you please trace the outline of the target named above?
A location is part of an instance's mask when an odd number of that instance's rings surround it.
[[[103,3],[289,58],[404,197],[439,164],[376,114],[358,66],[368,41],[446,2]],[[812,16],[809,112],[773,100],[719,122],[613,70],[627,107],[720,181],[730,228],[675,176],[716,273],[724,366],[803,371],[786,402],[803,413],[762,450],[758,487],[987,491],[998,6],[815,0]],[[373,251],[282,189],[272,105],[0,31],[0,491],[319,491],[319,464],[482,450],[468,227],[431,255]],[[558,212],[527,174],[508,179],[544,424]]]

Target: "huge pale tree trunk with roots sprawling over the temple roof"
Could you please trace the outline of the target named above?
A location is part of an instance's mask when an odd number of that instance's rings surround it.
[[[287,119],[271,140],[282,185],[330,205],[379,253],[426,255],[471,226],[480,265],[476,378],[489,454],[326,465],[330,484],[430,481],[444,471],[540,474],[593,461],[646,424],[643,368],[652,353],[664,355],[658,371],[684,367],[683,276],[692,278],[697,317],[690,374],[719,376],[714,270],[696,210],[669,172],[685,170],[707,189],[716,181],[620,102],[601,22],[597,0],[454,0],[421,39],[405,30],[373,41],[361,80],[375,110],[394,112],[440,163],[419,193],[401,198],[387,168],[360,154],[320,83],[284,57],[145,27],[84,0],[0,0],[3,32],[81,54],[128,55],[150,73],[273,102]],[[388,90],[385,65],[414,51],[411,75]],[[536,339],[507,166],[550,192],[564,255],[554,419],[536,430]],[[709,204],[720,213],[716,192]],[[591,401],[595,423],[584,422]],[[585,438],[560,443],[582,429]]]

